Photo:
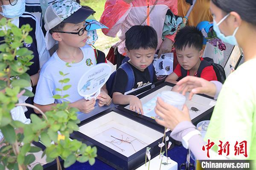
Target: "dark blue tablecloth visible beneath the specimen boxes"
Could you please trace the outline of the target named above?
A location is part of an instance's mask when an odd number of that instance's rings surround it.
[[[180,164],[186,162],[187,152],[188,150],[186,150],[182,145],[175,145],[175,147],[168,151],[168,157],[176,161],[179,167]],[[90,166],[88,162],[76,162],[72,166],[68,167],[67,170],[115,170],[115,168],[109,166],[108,164],[105,164],[99,159],[96,159],[96,162],[93,166]]]

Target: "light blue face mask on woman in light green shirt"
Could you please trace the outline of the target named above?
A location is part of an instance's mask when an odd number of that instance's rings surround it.
[[[224,34],[221,33],[220,29],[218,28],[218,26],[229,16],[230,14],[227,14],[224,18],[222,18],[220,20],[220,22],[216,23],[215,20],[213,20],[213,30],[216,32],[217,37],[219,39],[221,39],[223,42],[227,42],[231,45],[238,45],[237,41],[236,41],[236,32],[238,30],[239,27],[237,27],[233,33],[233,35],[230,36],[225,36]]]

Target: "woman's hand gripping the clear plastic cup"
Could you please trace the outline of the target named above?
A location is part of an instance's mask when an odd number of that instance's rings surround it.
[[[155,112],[161,117],[161,119],[156,118],[156,122],[159,125],[168,127],[170,130],[173,130],[180,122],[191,121],[186,105],[184,105],[183,111],[180,111],[172,105],[165,103],[160,97],[157,97]]]

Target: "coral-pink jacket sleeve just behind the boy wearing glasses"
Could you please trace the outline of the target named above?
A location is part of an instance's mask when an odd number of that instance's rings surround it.
[[[99,20],[100,23],[108,27],[102,29],[102,32],[109,37],[116,37],[122,23],[131,10],[133,0],[107,0],[105,9]]]

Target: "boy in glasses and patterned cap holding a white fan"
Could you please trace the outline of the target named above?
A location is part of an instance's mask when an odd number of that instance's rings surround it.
[[[59,80],[63,79],[59,74],[62,71],[68,73],[65,78],[70,79],[72,85],[65,94],[69,94],[65,101],[70,102],[70,107],[78,108],[83,113],[94,109],[95,99],[86,101],[77,91],[77,85],[81,76],[88,69],[96,65],[96,58],[93,48],[85,45],[87,31],[90,23],[85,22],[86,18],[94,11],[82,8],[73,0],[59,0],[48,6],[45,12],[45,29],[47,30],[47,49],[52,48],[58,41],[58,50],[44,64],[40,72],[38,86],[35,93],[34,105],[42,111],[49,111],[59,99],[53,99],[53,95],[61,95]],[[71,67],[67,67],[66,63]],[[105,88],[97,97],[99,106],[110,105],[111,98]],[[35,111],[37,112],[37,111]]]

